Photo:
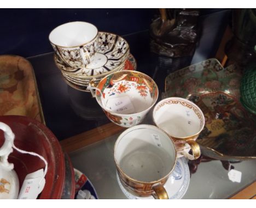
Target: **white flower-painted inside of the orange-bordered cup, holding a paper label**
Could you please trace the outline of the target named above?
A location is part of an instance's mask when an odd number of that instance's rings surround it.
[[[153,105],[157,96],[151,96],[146,84],[122,80],[103,91],[101,103],[110,112],[119,114],[139,113]]]

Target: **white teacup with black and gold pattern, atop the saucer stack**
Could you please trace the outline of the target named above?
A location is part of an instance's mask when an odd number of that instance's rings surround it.
[[[68,22],[53,29],[49,40],[63,62],[73,68],[83,68],[94,57],[98,29],[88,22]]]

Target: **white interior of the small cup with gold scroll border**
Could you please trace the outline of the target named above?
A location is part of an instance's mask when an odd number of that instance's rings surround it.
[[[204,117],[199,111],[194,111],[195,108],[184,106],[181,102],[165,102],[164,105],[162,103],[164,102],[156,105],[155,109],[157,110],[154,111],[153,117],[155,124],[170,136],[189,137],[202,129]]]

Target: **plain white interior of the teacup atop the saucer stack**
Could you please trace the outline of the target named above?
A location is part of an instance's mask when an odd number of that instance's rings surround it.
[[[69,22],[56,27],[50,33],[49,39],[58,46],[74,47],[91,41],[97,33],[97,28],[91,23]]]

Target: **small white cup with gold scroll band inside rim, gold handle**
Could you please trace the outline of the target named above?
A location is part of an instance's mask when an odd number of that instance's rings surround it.
[[[181,97],[161,100],[154,107],[153,120],[173,139],[178,155],[184,155],[189,160],[200,156],[200,146],[195,140],[205,126],[205,117],[193,102]],[[193,155],[185,151],[186,145],[190,146]]]

